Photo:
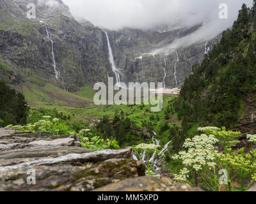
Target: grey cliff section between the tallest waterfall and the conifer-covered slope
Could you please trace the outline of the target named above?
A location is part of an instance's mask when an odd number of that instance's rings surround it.
[[[153,50],[172,44],[174,40],[195,32],[200,25],[167,31],[123,29],[109,31],[113,41],[116,66],[123,82],[164,82],[166,88],[180,87],[191,74],[193,64],[204,60],[206,52],[218,43],[220,36],[189,47],[151,54]]]

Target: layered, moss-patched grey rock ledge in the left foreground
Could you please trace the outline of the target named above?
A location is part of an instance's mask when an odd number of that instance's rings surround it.
[[[91,191],[145,175],[131,149],[92,152],[78,143],[75,135],[0,128],[0,191]],[[29,172],[35,185],[28,184]]]

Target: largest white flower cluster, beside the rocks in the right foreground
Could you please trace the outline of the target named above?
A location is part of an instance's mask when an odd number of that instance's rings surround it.
[[[182,164],[186,166],[179,175],[174,175],[175,180],[182,181],[186,179],[189,171],[187,168],[192,168],[195,171],[200,171],[202,168],[214,168],[216,166],[216,153],[213,146],[218,140],[214,135],[200,135],[192,139],[187,139],[183,147],[188,151],[179,152],[172,157],[174,160],[181,160]]]

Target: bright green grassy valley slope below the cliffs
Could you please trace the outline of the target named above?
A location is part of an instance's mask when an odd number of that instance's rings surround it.
[[[40,85],[39,85],[40,84]],[[94,91],[91,87],[81,87],[79,91],[70,93],[63,91],[54,85],[44,84],[33,80],[33,84],[26,82],[22,85],[22,91],[29,105],[34,108],[56,108],[64,113],[72,113],[81,119],[100,119],[104,115],[109,115],[109,118],[115,117],[115,113],[124,112],[124,116],[128,117],[134,124],[142,128],[142,121],[152,122],[154,131],[159,132],[159,126],[163,124],[164,110],[168,106],[168,101],[175,96],[166,95],[163,98],[163,110],[158,113],[152,113],[150,105],[143,106],[127,106],[127,105],[94,105]],[[154,119],[150,120],[150,116],[154,115]],[[157,120],[157,115],[159,120]],[[170,123],[179,124],[176,115],[172,115],[168,120]],[[161,141],[168,142],[168,133],[161,133]]]

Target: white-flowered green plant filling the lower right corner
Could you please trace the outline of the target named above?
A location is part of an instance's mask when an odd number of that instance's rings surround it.
[[[191,180],[200,177],[202,184],[210,191],[220,191],[223,185],[228,191],[234,191],[232,182],[240,179],[239,191],[246,191],[256,181],[256,150],[245,154],[244,149],[233,151],[230,148],[239,143],[239,132],[214,127],[198,128],[198,131],[205,134],[188,138],[183,145],[185,150],[172,157],[183,165],[174,179],[191,184]],[[218,152],[216,144],[224,151]],[[226,180],[218,179],[217,170],[227,172]],[[248,179],[251,180],[245,185]]]

